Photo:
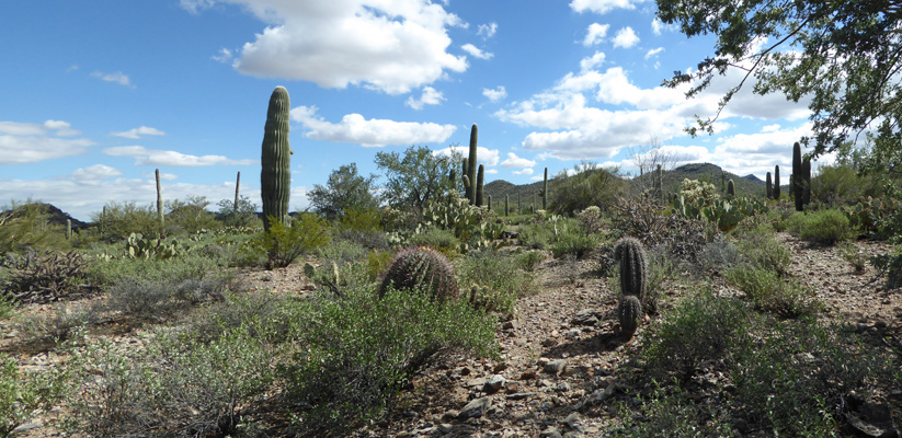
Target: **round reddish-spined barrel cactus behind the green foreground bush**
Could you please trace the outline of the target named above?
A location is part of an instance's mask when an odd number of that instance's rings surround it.
[[[379,286],[379,296],[389,287],[396,290],[422,288],[439,301],[456,299],[458,295],[450,262],[429,246],[408,247],[395,256]]]

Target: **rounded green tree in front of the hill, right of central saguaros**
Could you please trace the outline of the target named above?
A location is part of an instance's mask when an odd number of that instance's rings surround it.
[[[573,170],[573,175],[561,172],[555,176],[550,184],[555,196],[548,198],[548,210],[570,215],[585,210],[590,206],[607,206],[626,187],[626,182],[620,178],[619,169],[605,169],[584,161]]]

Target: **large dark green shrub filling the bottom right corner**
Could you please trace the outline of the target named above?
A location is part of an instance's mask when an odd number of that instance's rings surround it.
[[[813,319],[768,327],[763,341],[738,350],[729,372],[735,414],[752,425],[778,436],[840,436],[837,423],[863,395],[898,388],[892,357],[850,327]]]

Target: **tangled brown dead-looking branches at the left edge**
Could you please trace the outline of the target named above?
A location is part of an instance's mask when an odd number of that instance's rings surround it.
[[[77,250],[27,250],[23,254],[7,254],[0,266],[8,269],[0,281],[3,295],[19,302],[52,302],[76,296],[91,288],[83,284],[88,261]]]

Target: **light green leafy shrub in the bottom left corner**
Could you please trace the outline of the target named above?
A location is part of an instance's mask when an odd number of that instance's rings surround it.
[[[27,423],[41,411],[50,411],[72,391],[75,360],[46,370],[21,371],[16,360],[0,353],[0,437]]]

